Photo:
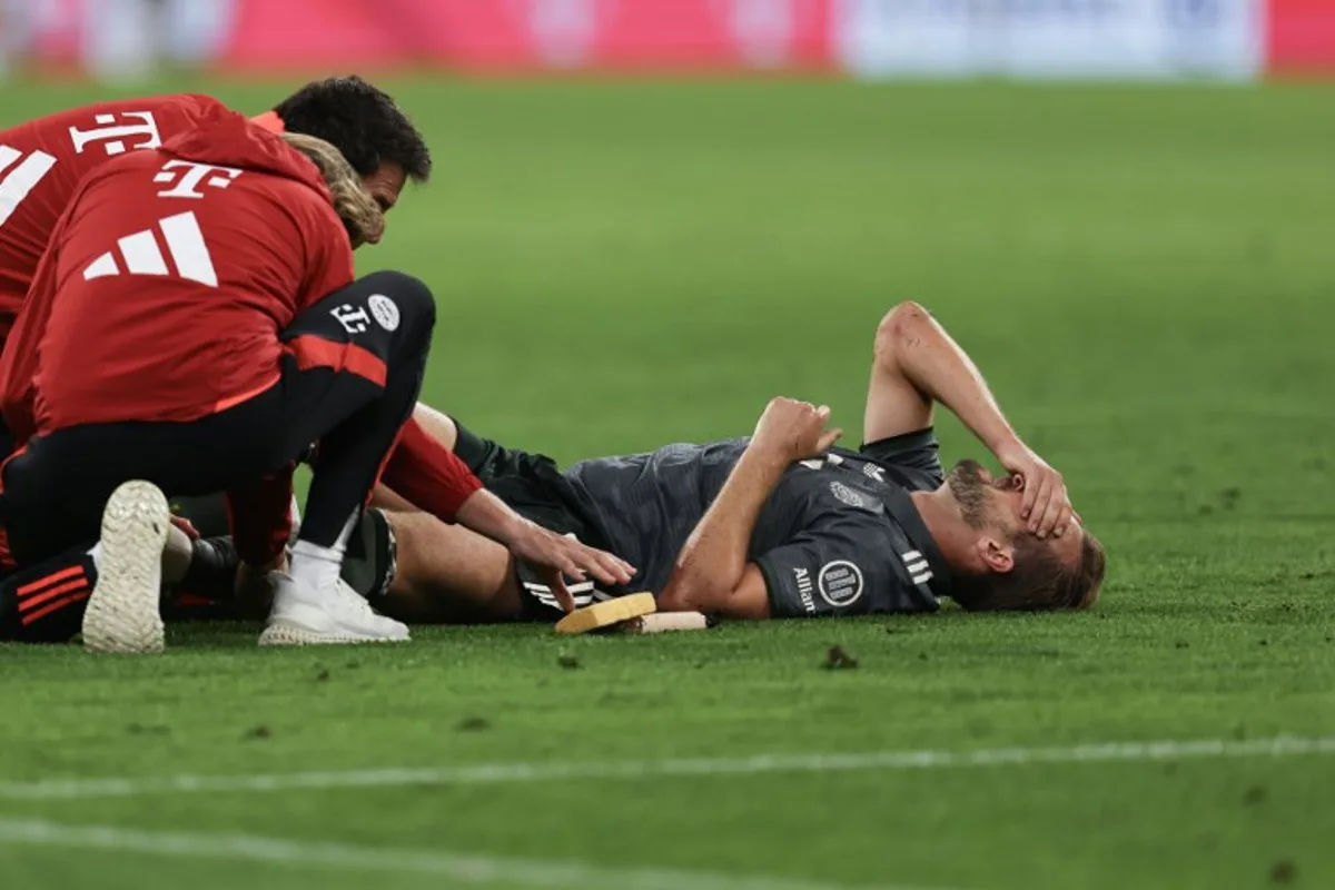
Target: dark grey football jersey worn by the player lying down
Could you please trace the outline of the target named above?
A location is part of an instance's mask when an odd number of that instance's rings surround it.
[[[732,472],[746,439],[673,444],[585,460],[565,478],[605,544],[661,591],[677,554]],[[930,431],[836,450],[790,467],[761,510],[749,558],[776,616],[933,611],[948,592],[944,560],[910,490],[941,483]]]

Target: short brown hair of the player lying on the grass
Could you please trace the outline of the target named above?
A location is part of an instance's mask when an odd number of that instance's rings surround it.
[[[1071,567],[1044,542],[1021,534],[1015,539],[1011,571],[957,576],[951,596],[979,612],[1088,608],[1099,599],[1107,571],[1108,551],[1088,531],[1083,531],[1080,558]]]

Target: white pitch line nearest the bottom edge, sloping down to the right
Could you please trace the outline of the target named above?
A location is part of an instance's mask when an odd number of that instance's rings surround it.
[[[613,869],[574,861],[494,858],[437,850],[364,847],[290,841],[250,834],[183,834],[104,825],[61,825],[43,819],[0,819],[0,845],[140,853],[156,857],[227,859],[266,865],[409,873],[450,883],[590,890],[861,890],[850,885],[728,875],[676,869]],[[864,885],[865,887],[865,885]],[[897,886],[865,890],[910,890]]]

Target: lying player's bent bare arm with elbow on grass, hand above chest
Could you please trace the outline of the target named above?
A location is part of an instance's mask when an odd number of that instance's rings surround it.
[[[825,430],[828,407],[774,399],[765,408],[746,452],[705,511],[668,586],[662,611],[698,611],[728,618],[769,618],[769,598],[748,547],[761,507],[789,466],[829,450],[841,435]]]

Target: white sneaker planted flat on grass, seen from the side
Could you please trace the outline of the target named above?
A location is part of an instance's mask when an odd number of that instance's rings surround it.
[[[284,572],[271,572],[274,610],[260,646],[403,643],[407,624],[376,615],[346,582],[316,590]]]

